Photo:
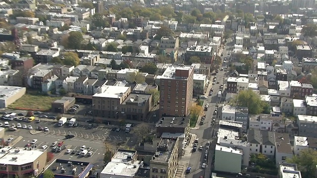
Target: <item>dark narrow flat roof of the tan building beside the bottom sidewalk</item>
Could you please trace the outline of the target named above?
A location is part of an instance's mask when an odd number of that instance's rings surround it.
[[[175,146],[176,139],[172,138],[161,138],[157,151],[155,153],[155,159],[152,162],[168,163],[170,155]]]

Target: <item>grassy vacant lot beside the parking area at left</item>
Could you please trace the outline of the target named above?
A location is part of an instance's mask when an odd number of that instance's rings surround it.
[[[9,105],[9,109],[32,110],[32,111],[49,111],[51,102],[61,97],[51,97],[26,93],[20,99]]]

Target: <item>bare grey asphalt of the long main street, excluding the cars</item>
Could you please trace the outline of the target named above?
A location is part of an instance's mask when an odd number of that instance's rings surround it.
[[[226,48],[223,50],[219,51],[219,55],[221,54],[221,52],[223,52],[223,56],[221,56],[222,60],[224,57],[228,57],[227,56],[227,50],[229,49],[230,46],[228,46],[228,43],[226,44]],[[226,63],[222,63],[222,67],[224,68],[227,64]],[[199,151],[197,150],[196,152],[192,153],[190,162],[189,162],[189,167],[191,167],[191,173],[186,175],[186,178],[199,178],[200,176],[209,178],[211,176],[211,168],[212,168],[212,157],[214,154],[214,149],[215,149],[215,144],[216,144],[216,138],[213,139],[213,136],[215,136],[214,133],[217,132],[218,127],[219,127],[219,115],[217,115],[216,117],[214,117],[214,119],[216,119],[216,123],[214,123],[214,125],[212,125],[212,119],[213,119],[213,112],[216,108],[216,102],[218,99],[218,91],[219,91],[219,87],[220,85],[223,84],[224,79],[226,77],[226,72],[225,71],[219,71],[219,73],[216,75],[217,77],[217,81],[219,81],[219,84],[212,85],[213,88],[213,92],[212,95],[208,97],[208,99],[206,99],[204,101],[204,106],[206,103],[209,103],[209,108],[208,111],[205,111],[206,114],[206,119],[205,119],[205,123],[203,125],[201,125],[199,127],[199,129],[191,130],[192,134],[196,134],[197,138],[199,138],[199,143],[198,143],[198,147],[200,145],[204,146],[204,150]],[[213,79],[213,76],[211,76],[211,80]],[[209,91],[207,91],[209,92]],[[219,107],[221,107],[221,104],[219,104]],[[218,109],[218,114],[221,113],[221,108]],[[200,119],[198,119],[198,122],[200,122]],[[208,152],[208,167],[206,169],[202,168],[202,164],[203,164],[203,160],[204,160],[204,156],[205,156],[205,145],[207,143],[207,141],[211,141],[211,147],[209,149]],[[192,145],[192,144],[191,144]],[[186,169],[186,168],[185,168]]]

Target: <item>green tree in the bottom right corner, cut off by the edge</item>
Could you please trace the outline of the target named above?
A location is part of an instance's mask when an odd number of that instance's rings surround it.
[[[289,163],[296,163],[303,178],[314,178],[317,165],[317,151],[311,148],[303,149],[299,155],[287,159]]]

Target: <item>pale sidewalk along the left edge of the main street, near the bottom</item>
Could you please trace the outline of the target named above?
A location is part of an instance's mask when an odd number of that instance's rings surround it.
[[[185,146],[183,156],[178,159],[177,171],[175,178],[185,178],[185,171],[189,165],[190,158],[192,156],[193,144],[192,140],[195,140],[197,137],[196,134],[192,134],[191,140],[189,140],[189,144]]]

